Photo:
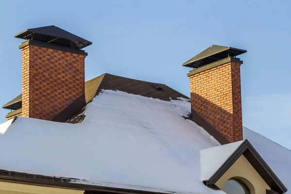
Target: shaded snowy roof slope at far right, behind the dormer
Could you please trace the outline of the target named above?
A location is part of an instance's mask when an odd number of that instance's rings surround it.
[[[275,175],[282,181],[287,189],[291,190],[291,150],[245,127],[243,128],[242,134],[243,139],[247,139],[252,146],[255,147],[260,156],[274,171]],[[290,191],[286,194],[289,193]]]

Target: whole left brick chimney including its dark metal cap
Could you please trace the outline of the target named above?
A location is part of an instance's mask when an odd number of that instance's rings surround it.
[[[15,35],[25,39],[22,50],[22,110],[24,117],[51,120],[84,97],[81,50],[92,43],[56,26],[28,29]]]

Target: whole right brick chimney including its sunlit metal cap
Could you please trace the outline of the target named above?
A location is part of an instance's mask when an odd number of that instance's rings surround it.
[[[212,45],[183,64],[194,68],[187,74],[192,119],[195,121],[198,113],[230,142],[242,140],[242,61],[236,56],[245,52]]]

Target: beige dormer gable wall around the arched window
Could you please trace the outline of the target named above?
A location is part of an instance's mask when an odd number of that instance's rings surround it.
[[[266,189],[270,189],[243,155],[230,166],[215,185],[224,191],[224,185],[230,178],[238,178],[244,182],[249,187],[251,194],[266,194]]]

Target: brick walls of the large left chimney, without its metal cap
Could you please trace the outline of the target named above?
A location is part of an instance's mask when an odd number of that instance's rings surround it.
[[[22,116],[50,120],[84,94],[85,55],[28,45],[22,50]]]

